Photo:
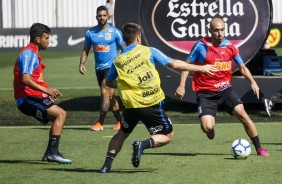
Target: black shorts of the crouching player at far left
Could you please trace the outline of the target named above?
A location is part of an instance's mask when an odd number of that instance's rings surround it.
[[[43,125],[46,125],[50,120],[47,117],[47,109],[54,105],[48,99],[41,99],[37,97],[24,97],[18,109],[25,115],[33,116]]]

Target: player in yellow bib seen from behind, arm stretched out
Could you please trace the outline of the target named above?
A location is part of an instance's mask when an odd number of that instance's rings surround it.
[[[176,70],[192,70],[204,73],[215,71],[213,65],[196,66],[172,59],[153,47],[140,45],[141,27],[128,23],[123,26],[127,47],[114,61],[106,79],[106,85],[117,88],[125,106],[121,118],[121,129],[109,143],[101,173],[111,171],[114,158],[121,150],[126,138],[139,121],[142,121],[151,137],[133,143],[132,164],[138,167],[144,149],[164,146],[173,138],[173,127],[163,109],[164,92],[155,63]],[[118,80],[116,80],[118,78]]]

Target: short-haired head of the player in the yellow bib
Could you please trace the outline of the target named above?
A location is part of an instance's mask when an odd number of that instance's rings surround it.
[[[122,26],[123,39],[126,45],[132,44],[136,37],[141,34],[141,26],[136,23],[127,23]]]

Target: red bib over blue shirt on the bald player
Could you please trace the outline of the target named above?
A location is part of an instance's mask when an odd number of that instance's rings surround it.
[[[231,86],[233,61],[243,63],[238,48],[228,39],[214,45],[210,38],[200,39],[192,48],[187,60],[197,65],[212,64],[218,69],[214,75],[194,72],[192,88],[194,91],[221,91]]]

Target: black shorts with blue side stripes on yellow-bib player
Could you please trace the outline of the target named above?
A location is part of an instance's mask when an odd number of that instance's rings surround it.
[[[151,135],[171,133],[172,123],[163,110],[163,104],[161,101],[150,107],[125,109],[121,117],[122,131],[131,133],[137,123],[142,121]]]

